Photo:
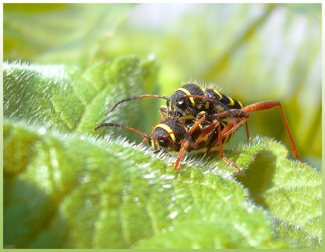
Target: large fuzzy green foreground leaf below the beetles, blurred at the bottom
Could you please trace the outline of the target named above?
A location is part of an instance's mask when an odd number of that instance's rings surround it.
[[[171,159],[120,140],[42,135],[10,121],[4,132],[6,245],[122,248],[148,239],[146,247],[157,247],[158,239],[163,247],[288,246],[274,240],[271,216],[246,202],[245,188],[198,170],[200,162],[175,173]],[[187,239],[193,242],[179,243]]]

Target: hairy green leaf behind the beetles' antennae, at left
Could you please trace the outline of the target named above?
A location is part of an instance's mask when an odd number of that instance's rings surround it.
[[[68,65],[28,65],[4,62],[4,116],[62,132],[93,132],[96,124],[114,120],[132,124],[136,108],[109,113],[120,98],[141,92],[139,58],[120,57],[101,62],[81,73]],[[124,120],[123,120],[124,118]],[[104,131],[102,131],[104,132]]]

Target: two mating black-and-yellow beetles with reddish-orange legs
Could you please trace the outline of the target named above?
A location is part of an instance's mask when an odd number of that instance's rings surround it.
[[[175,170],[179,168],[185,150],[190,152],[191,150],[207,148],[207,152],[209,152],[211,148],[218,145],[219,156],[233,168],[237,169],[237,172],[240,172],[239,167],[235,163],[224,157],[222,144],[227,142],[234,131],[243,123],[246,126],[246,135],[249,142],[248,112],[279,106],[293,156],[301,161],[290,133],[283,107],[279,101],[262,101],[243,107],[239,101],[220,93],[213,86],[204,87],[201,82],[192,82],[178,88],[171,97],[139,95],[122,99],[115,103],[110,111],[113,111],[118,104],[124,101],[144,97],[156,97],[167,100],[166,106],[161,106],[159,110],[162,120],[156,125],[150,136],[133,128],[115,123],[99,124],[95,130],[104,126],[124,128],[142,135],[145,138],[142,144],[149,140],[151,149],[154,152],[178,151]],[[167,117],[165,114],[167,114]],[[230,118],[230,120],[225,120],[227,118]]]

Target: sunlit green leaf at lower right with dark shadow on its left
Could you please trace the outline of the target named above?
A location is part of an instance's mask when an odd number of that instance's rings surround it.
[[[256,161],[246,176],[238,180],[247,187],[254,201],[276,217],[280,237],[321,246],[321,174],[297,161],[287,160],[287,150],[279,143],[266,141],[272,152],[258,155],[268,162]],[[257,160],[257,158],[256,158]]]

